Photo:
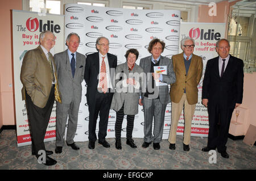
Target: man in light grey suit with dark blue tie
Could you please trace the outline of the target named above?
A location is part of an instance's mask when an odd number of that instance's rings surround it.
[[[77,118],[81,102],[82,86],[85,70],[85,56],[76,52],[79,47],[80,37],[77,33],[69,33],[66,45],[68,49],[55,54],[59,89],[62,103],[57,103],[56,108],[56,148],[55,153],[61,153],[64,145],[64,133],[68,118],[67,138],[68,146],[79,150],[73,140],[77,128]]]

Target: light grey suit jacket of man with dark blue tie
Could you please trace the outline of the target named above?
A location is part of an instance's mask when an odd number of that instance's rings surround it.
[[[85,70],[85,56],[76,52],[76,71],[72,76],[71,65],[68,57],[68,49],[54,56],[56,71],[59,79],[59,89],[62,103],[70,104],[72,100],[81,102],[82,86]]]

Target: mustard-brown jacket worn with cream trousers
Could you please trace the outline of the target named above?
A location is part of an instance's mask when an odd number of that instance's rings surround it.
[[[171,85],[171,100],[179,103],[186,89],[188,104],[196,104],[198,101],[197,85],[203,73],[203,60],[201,57],[192,54],[188,74],[185,70],[183,53],[172,56],[172,64],[176,75],[176,82]]]

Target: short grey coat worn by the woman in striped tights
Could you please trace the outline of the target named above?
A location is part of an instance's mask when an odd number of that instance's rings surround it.
[[[139,75],[142,75],[142,77]],[[134,65],[134,68],[130,73],[127,62],[117,66],[115,69],[115,93],[110,109],[119,111],[123,106],[123,102],[125,102],[123,108],[125,115],[136,115],[138,113],[139,90],[142,86],[143,75],[143,69],[137,64]],[[137,85],[127,86],[127,78],[134,78]]]

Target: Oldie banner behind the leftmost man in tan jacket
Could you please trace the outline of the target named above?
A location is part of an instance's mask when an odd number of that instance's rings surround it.
[[[39,35],[42,31],[49,30],[55,33],[56,44],[51,53],[62,52],[64,46],[64,16],[53,14],[38,14],[36,12],[13,10],[13,66],[14,66],[14,91],[15,115],[18,146],[31,144],[30,129],[28,127],[27,109],[22,100],[22,82],[20,69],[27,50],[39,45]],[[53,106],[51,118],[46,131],[45,141],[55,140],[56,103]]]

